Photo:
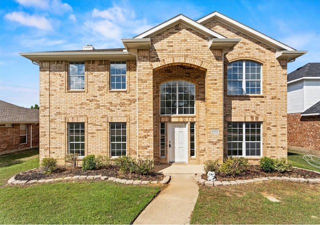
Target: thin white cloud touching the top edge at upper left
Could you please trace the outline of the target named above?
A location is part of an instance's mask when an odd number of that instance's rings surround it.
[[[72,7],[67,3],[61,3],[60,0],[16,0],[23,7],[30,7],[39,10],[49,10],[53,14],[63,14],[64,12],[72,11]]]

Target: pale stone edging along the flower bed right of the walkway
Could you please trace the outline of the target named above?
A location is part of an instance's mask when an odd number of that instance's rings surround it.
[[[284,181],[292,181],[292,182],[310,182],[310,183],[320,183],[320,178],[301,178],[301,177],[287,177],[287,176],[268,176],[261,178],[253,178],[248,180],[232,180],[232,181],[211,181],[205,180],[201,178],[202,174],[196,174],[195,180],[205,186],[220,186],[220,185],[236,185],[242,183],[253,183],[257,181],[265,181],[265,180],[284,180]]]

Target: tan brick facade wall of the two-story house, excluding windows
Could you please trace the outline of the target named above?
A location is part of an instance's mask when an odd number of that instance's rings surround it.
[[[68,62],[40,62],[40,159],[56,157],[62,163],[67,122],[73,121],[85,123],[85,155],[109,155],[108,123],[126,122],[127,153],[166,163],[167,158],[159,158],[160,122],[195,122],[196,157],[189,157],[188,163],[222,160],[223,124],[226,128],[228,121],[258,121],[263,127],[263,156],[286,157],[286,62],[277,61],[270,47],[225,25],[212,21],[205,26],[225,37],[241,38],[224,58],[224,76],[222,50],[208,49],[207,37],[181,24],[152,37],[150,50],[138,50],[137,62],[127,61],[125,92],[109,90],[108,61],[85,61],[83,91],[67,90]],[[262,64],[262,95],[226,95],[226,65],[236,60]],[[194,116],[159,115],[159,85],[173,79],[195,84]],[[211,129],[220,132],[211,134]]]

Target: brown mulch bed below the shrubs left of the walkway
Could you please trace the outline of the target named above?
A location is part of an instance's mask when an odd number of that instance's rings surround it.
[[[36,168],[30,171],[24,171],[15,175],[16,180],[39,180],[39,179],[51,179],[59,177],[68,177],[76,175],[101,175],[107,177],[116,177],[127,180],[141,180],[141,181],[160,181],[164,178],[163,174],[152,173],[150,175],[139,175],[136,173],[121,174],[116,166],[110,166],[107,169],[86,170],[82,171],[81,167],[76,167],[72,170],[71,167],[58,167],[55,172],[51,174],[43,173],[42,168]]]

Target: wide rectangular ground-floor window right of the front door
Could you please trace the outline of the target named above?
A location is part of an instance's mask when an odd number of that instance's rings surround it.
[[[227,123],[228,156],[261,156],[261,123]]]

